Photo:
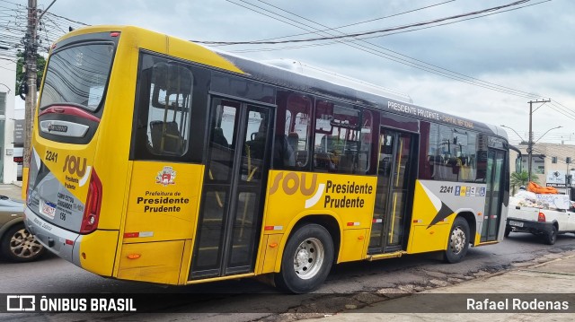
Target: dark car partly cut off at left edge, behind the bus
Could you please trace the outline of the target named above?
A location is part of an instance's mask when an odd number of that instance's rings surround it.
[[[0,257],[13,262],[31,262],[46,252],[26,230],[23,219],[22,201],[0,196]]]

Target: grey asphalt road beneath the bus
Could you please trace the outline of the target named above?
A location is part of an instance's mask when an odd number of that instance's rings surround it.
[[[360,307],[397,292],[461,283],[538,258],[559,257],[572,249],[575,249],[573,234],[561,235],[555,245],[549,246],[531,234],[511,233],[500,244],[471,248],[464,261],[455,265],[444,264],[433,254],[337,265],[323,287],[306,295],[282,294],[253,279],[183,287],[117,281],[47,256],[26,264],[0,261],[0,293],[161,293],[165,294],[165,300],[155,303],[156,313],[146,314],[146,321],[293,321]],[[2,321],[38,318],[78,321],[86,317],[85,314],[0,315]],[[90,320],[139,321],[140,318],[137,314],[102,313],[92,315]]]

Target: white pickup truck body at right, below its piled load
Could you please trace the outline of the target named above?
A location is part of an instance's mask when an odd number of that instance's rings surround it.
[[[505,237],[512,231],[541,235],[546,244],[553,245],[558,234],[575,233],[575,212],[573,208],[550,210],[509,205]]]

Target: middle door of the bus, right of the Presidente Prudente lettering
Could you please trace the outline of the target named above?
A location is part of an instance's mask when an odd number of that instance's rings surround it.
[[[376,207],[369,254],[403,248],[411,213],[410,196],[415,179],[416,135],[382,127],[377,165]]]

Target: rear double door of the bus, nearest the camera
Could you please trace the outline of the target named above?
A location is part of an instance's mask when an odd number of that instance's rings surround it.
[[[208,156],[189,280],[253,272],[272,110],[212,99]]]

